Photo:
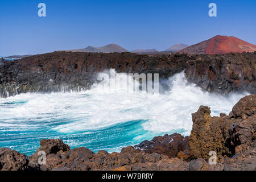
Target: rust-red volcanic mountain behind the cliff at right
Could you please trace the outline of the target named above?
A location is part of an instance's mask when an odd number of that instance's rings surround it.
[[[229,52],[254,52],[256,46],[254,44],[247,43],[234,36],[221,36],[217,35],[209,40],[205,40],[198,44],[181,49],[180,53],[188,54],[222,54]]]

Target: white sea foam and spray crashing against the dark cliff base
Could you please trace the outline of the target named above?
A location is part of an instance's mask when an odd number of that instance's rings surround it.
[[[26,93],[1,98],[0,127],[28,130],[55,122],[56,125],[49,130],[75,133],[144,119],[147,120],[142,124],[144,130],[180,131],[189,135],[191,113],[195,113],[200,105],[210,106],[212,115],[228,114],[240,98],[249,94],[234,93],[224,97],[203,92],[195,84],[188,84],[184,72],[166,81],[170,89],[164,94],[127,92],[123,89],[123,81],[117,80],[115,89],[101,82],[85,92]]]

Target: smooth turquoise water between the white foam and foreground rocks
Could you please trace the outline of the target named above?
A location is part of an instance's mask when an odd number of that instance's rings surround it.
[[[3,106],[12,107],[16,104],[22,103],[0,105],[0,108]],[[23,123],[26,122],[28,121],[23,121]],[[23,154],[31,155],[40,147],[41,139],[60,138],[72,148],[85,146],[94,152],[97,152],[98,150],[113,152],[120,151],[121,148],[125,146],[138,144],[144,139],[151,139],[152,136],[156,134],[152,131],[143,129],[141,125],[146,122],[146,120],[128,121],[98,130],[85,130],[68,134],[59,133],[51,129],[72,121],[58,121],[57,119],[54,121],[53,119],[50,122],[41,122],[42,123],[38,123],[39,126],[34,130],[27,129],[22,131],[12,131],[9,127],[1,127],[0,147],[12,148]]]

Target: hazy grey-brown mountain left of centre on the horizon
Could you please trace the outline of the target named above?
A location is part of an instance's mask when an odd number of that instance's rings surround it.
[[[93,47],[88,46],[84,49],[72,49],[67,50],[71,52],[104,52],[104,53],[110,53],[110,52],[129,52],[125,48],[122,48],[121,46],[118,46],[117,44],[109,44],[102,47]]]

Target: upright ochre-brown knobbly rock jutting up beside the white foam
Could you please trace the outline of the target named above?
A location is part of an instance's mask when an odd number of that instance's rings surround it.
[[[228,148],[225,147],[223,139],[224,128],[229,125],[226,118],[212,118],[210,108],[200,106],[199,110],[192,114],[193,129],[188,140],[189,152],[192,158],[209,158],[209,151],[218,151],[219,156],[226,154]],[[231,155],[231,154],[230,154]]]

